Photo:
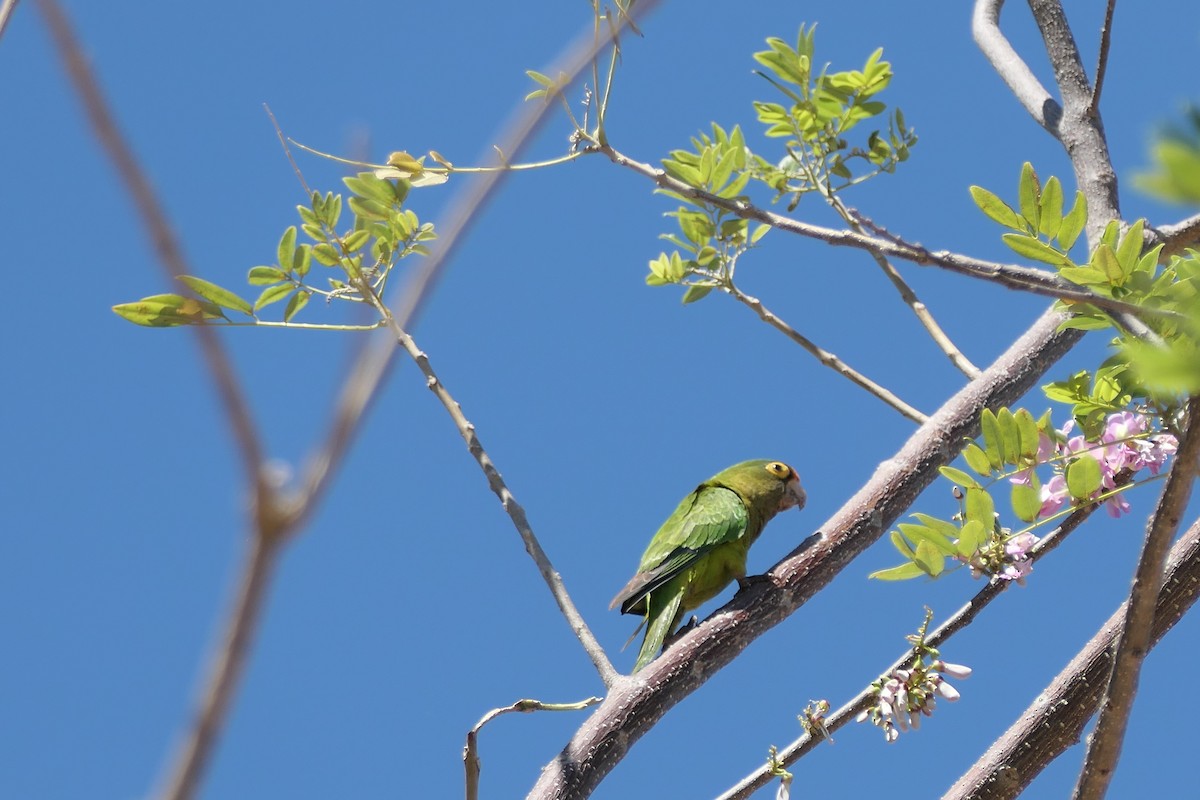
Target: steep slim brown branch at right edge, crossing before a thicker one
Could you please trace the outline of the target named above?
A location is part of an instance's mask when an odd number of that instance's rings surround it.
[[[1154,513],[1146,527],[1146,541],[1126,602],[1126,614],[1117,634],[1112,674],[1100,705],[1100,714],[1087,740],[1087,756],[1075,784],[1076,800],[1102,800],[1121,757],[1129,712],[1138,694],[1141,663],[1153,640],[1154,604],[1163,584],[1166,554],[1192,497],[1192,485],[1200,468],[1200,398],[1188,404],[1188,428]]]

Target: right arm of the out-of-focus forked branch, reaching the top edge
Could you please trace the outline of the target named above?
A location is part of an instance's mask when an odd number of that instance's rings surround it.
[[[634,18],[644,18],[658,5],[658,0],[640,0]],[[554,76],[562,73],[566,76],[568,82],[574,80],[588,68],[592,60],[605,47],[616,43],[616,36],[632,23],[634,19],[622,13],[620,19],[612,26],[612,36],[595,36],[593,26],[589,25],[587,31],[566,49],[566,54],[559,59],[559,65],[551,67],[547,73]],[[496,150],[505,154],[504,160],[516,157],[524,149],[545,122],[546,115],[552,109],[557,109],[557,106],[547,100],[539,103],[524,103],[520,108],[496,145]],[[488,152],[492,152],[491,148]],[[484,173],[470,182],[462,194],[456,197],[446,211],[445,218],[438,223],[438,246],[433,248],[428,258],[422,259],[407,287],[392,291],[384,299],[385,305],[397,309],[395,317],[402,329],[410,330],[416,324],[425,301],[433,291],[458,242],[479,219],[480,210],[496,193],[508,174],[508,170]],[[361,348],[354,356],[349,377],[342,385],[342,392],[337,398],[324,444],[310,457],[306,465],[304,474],[305,503],[301,516],[306,517],[312,511],[314,504],[328,488],[329,480],[344,457],[367,407],[391,367],[395,354],[396,344],[386,335],[364,339]]]

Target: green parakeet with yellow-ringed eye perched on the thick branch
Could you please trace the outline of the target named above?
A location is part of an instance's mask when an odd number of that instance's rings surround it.
[[[685,612],[745,576],[746,554],[763,527],[780,511],[803,509],[805,499],[799,475],[779,461],[742,462],[683,499],[608,607],[644,616],[634,672],[658,655]]]

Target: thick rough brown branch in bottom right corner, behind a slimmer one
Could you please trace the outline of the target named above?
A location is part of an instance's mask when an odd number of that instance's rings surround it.
[[[1176,462],[1178,463],[1178,462]],[[1171,548],[1158,593],[1151,646],[1200,596],[1200,521]],[[942,795],[942,800],[1010,800],[1050,762],[1079,744],[1104,693],[1127,604],[1114,613],[1013,726]]]

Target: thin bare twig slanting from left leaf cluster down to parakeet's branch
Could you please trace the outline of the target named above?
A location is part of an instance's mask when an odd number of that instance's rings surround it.
[[[526,517],[524,509],[517,503],[517,499],[512,495],[504,479],[500,476],[496,464],[492,462],[487,451],[484,450],[482,443],[479,440],[479,435],[475,433],[475,426],[467,419],[462,411],[462,407],[455,401],[454,396],[445,387],[445,384],[438,379],[437,373],[433,372],[432,365],[430,365],[428,356],[416,347],[416,342],[413,337],[400,325],[396,318],[392,315],[391,311],[383,303],[379,296],[371,289],[371,285],[366,281],[355,281],[355,288],[362,294],[362,296],[370,299],[371,303],[379,312],[379,315],[388,321],[388,329],[391,335],[396,338],[396,343],[403,348],[404,353],[416,363],[418,369],[425,375],[425,380],[430,390],[437,396],[438,401],[445,408],[446,413],[450,414],[450,419],[454,421],[455,427],[458,429],[460,435],[462,435],[463,441],[467,443],[467,450],[475,458],[479,468],[484,470],[484,475],[487,477],[487,486],[492,492],[500,499],[500,505],[504,506],[504,511],[508,512],[509,518],[512,521],[512,527],[517,529],[517,534],[521,536],[521,541],[524,542],[526,551],[529,557],[533,558],[534,564],[538,565],[538,571],[541,572],[542,579],[550,588],[550,593],[554,596],[554,602],[558,603],[559,610],[563,616],[566,618],[568,625],[575,632],[575,636],[580,639],[583,645],[583,650],[592,658],[592,663],[595,664],[596,672],[600,673],[600,680],[605,686],[612,686],[618,678],[619,673],[613,668],[612,662],[608,661],[608,656],[605,655],[604,648],[596,640],[592,630],[588,627],[587,622],[583,621],[583,615],[575,607],[575,602],[571,596],[566,593],[566,587],[563,585],[563,578],[554,570],[554,565],[550,563],[550,557],[541,548],[538,542],[538,537],[533,533],[533,528],[529,525],[529,519]]]

